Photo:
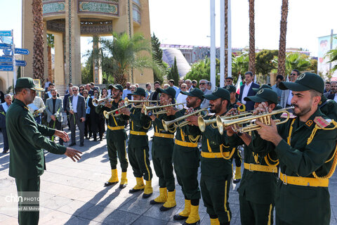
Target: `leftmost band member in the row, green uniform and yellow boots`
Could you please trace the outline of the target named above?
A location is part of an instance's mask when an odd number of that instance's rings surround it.
[[[112,89],[112,95],[114,101],[112,103],[105,103],[105,105],[98,105],[95,108],[96,113],[103,113],[104,110],[110,112],[119,108],[119,103],[121,100],[121,95],[123,94],[123,86],[121,84],[114,84],[109,86]],[[118,173],[117,173],[117,155],[119,158],[119,163],[121,164],[121,183],[119,188],[125,188],[128,184],[128,179],[126,177],[126,171],[128,169],[128,159],[126,158],[126,131],[124,126],[128,116],[110,115],[109,120],[107,120],[107,155],[109,155],[110,167],[111,167],[111,177],[105,182],[104,186],[110,186],[112,184],[117,184]]]

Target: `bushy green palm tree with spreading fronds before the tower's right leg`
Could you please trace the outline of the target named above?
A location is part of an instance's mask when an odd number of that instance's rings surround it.
[[[162,68],[156,62],[145,56],[144,52],[151,53],[150,41],[147,41],[142,34],[117,34],[114,32],[113,39],[101,40],[103,51],[111,55],[111,67],[114,74],[114,82],[124,86],[128,80],[128,72],[131,68],[142,70],[152,68],[154,71],[162,73]]]

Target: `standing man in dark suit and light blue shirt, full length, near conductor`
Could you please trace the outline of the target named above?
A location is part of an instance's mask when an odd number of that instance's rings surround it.
[[[86,120],[86,102],[84,96],[79,95],[79,87],[72,86],[72,96],[69,97],[67,110],[70,113],[70,130],[72,131],[72,143],[76,145],[76,125],[79,127],[79,146],[84,146],[84,121]]]

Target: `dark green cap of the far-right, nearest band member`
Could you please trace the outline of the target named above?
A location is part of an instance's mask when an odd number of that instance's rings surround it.
[[[324,81],[319,75],[312,72],[305,72],[299,75],[296,82],[281,82],[279,83],[279,89],[291,91],[308,91],[315,90],[320,93],[324,91]]]

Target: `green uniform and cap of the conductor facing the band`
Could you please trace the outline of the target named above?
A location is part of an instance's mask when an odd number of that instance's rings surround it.
[[[33,79],[24,77],[19,78],[15,88],[29,88],[34,91],[43,91],[35,87]],[[39,197],[40,177],[46,169],[44,161],[44,149],[54,154],[64,154],[65,146],[60,146],[50,141],[46,136],[53,136],[55,129],[48,128],[35,122],[32,113],[29,112],[27,105],[15,99],[6,113],[6,128],[8,133],[10,162],[9,176],[15,178],[18,195],[25,198],[27,191],[34,192],[34,196]],[[31,202],[18,203],[19,224],[38,224],[39,211],[23,211],[25,205]],[[39,207],[39,201],[34,202]],[[32,206],[32,205],[29,205]],[[23,208],[22,208],[23,207]]]

